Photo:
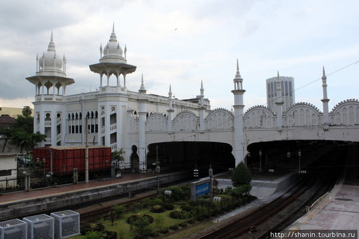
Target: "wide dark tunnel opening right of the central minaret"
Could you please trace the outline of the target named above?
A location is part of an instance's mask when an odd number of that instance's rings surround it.
[[[357,143],[331,140],[257,142],[248,145],[245,162],[252,171],[298,171],[314,161],[328,167],[343,160],[341,152],[349,145]]]

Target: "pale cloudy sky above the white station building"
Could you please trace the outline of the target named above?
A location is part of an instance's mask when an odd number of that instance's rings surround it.
[[[296,102],[322,111],[323,66],[330,110],[359,98],[357,0],[2,0],[1,6],[0,106],[33,107],[34,86],[25,78],[35,75],[36,53],[47,50],[51,31],[75,80],[67,95],[94,91],[99,76],[88,66],[98,62],[113,23],[127,62],[137,66],[126,77],[131,91],[144,74],[148,94],[168,96],[171,84],[185,99],[200,94],[203,80],[212,109],[230,110],[238,58],[245,110],[266,105],[265,80],[279,71],[294,77]]]

